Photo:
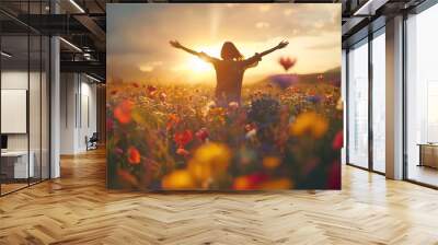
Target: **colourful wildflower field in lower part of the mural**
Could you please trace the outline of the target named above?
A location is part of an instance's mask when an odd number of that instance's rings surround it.
[[[274,75],[224,107],[212,86],[108,84],[108,187],[339,189],[339,88],[301,80]]]

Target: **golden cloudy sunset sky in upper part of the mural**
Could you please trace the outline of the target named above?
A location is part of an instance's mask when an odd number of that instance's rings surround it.
[[[244,83],[284,73],[280,57],[297,58],[289,72],[323,72],[341,66],[341,4],[107,4],[108,80],[214,83],[214,68],[172,39],[218,58],[226,40],[245,57],[289,40],[249,69]]]

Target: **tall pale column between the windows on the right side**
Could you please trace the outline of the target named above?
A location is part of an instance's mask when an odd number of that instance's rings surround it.
[[[403,178],[403,16],[387,21],[387,177]]]

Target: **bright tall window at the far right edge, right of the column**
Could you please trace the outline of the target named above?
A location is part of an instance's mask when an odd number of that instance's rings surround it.
[[[406,175],[438,186],[438,4],[406,20]]]

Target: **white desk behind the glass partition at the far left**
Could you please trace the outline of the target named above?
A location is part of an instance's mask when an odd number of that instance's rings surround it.
[[[1,171],[7,175],[7,178],[27,178],[34,177],[34,159],[35,154],[30,151],[27,168],[27,151],[5,151],[1,152]],[[4,170],[4,171],[3,171]],[[28,176],[27,176],[28,174]]]

